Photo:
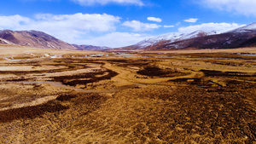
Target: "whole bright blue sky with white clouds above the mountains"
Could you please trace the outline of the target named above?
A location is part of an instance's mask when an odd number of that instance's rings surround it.
[[[254,0],[1,0],[0,30],[121,47],[169,32],[227,31],[256,21]]]

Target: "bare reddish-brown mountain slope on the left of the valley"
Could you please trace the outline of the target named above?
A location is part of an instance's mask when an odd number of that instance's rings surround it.
[[[0,31],[0,38],[21,46],[44,49],[77,49],[69,43],[38,31],[3,30]]]

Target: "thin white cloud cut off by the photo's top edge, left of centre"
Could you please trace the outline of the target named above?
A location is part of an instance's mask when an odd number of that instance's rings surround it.
[[[139,5],[139,6],[144,5],[144,3],[141,0],[72,0],[72,1],[84,6],[90,6],[95,4],[106,5],[108,3],[133,4],[133,5]]]

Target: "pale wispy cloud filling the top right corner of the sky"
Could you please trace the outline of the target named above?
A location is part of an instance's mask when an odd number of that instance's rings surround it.
[[[212,9],[256,16],[255,0],[200,0],[200,3]]]

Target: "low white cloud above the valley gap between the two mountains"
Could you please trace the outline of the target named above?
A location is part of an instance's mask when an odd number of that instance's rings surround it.
[[[108,46],[111,48],[119,48],[138,43],[148,38],[146,34],[129,33],[129,32],[112,32],[102,37],[94,37],[85,40],[83,43],[92,45]]]

